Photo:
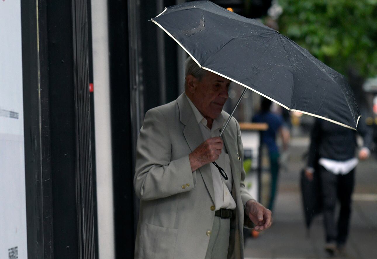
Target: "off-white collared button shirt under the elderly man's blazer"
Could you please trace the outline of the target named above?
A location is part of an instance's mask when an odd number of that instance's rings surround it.
[[[196,121],[199,124],[200,131],[202,132],[203,139],[214,138],[220,135],[220,128],[224,123],[225,119],[222,114],[220,114],[215,120],[213,120],[212,128],[207,127],[207,120],[195,107],[189,97],[185,94],[187,100],[190,103],[190,106],[194,112]],[[225,173],[228,176],[228,180],[225,180],[221,175],[216,166],[210,163],[212,181],[213,181],[213,190],[215,191],[215,208],[219,210],[220,208],[236,208],[236,202],[234,201],[230,190],[232,189],[233,178],[230,168],[230,158],[225,150],[225,146],[222,147],[221,155],[216,160],[216,163],[224,169]]]

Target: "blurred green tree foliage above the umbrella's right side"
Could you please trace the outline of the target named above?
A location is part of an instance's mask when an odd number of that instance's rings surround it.
[[[279,31],[345,75],[377,75],[377,0],[278,0]]]

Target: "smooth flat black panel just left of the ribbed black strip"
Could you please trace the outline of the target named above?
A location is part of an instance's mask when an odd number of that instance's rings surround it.
[[[46,4],[48,26],[44,47],[49,56],[53,249],[58,258],[82,258],[75,14],[71,1],[41,2]]]

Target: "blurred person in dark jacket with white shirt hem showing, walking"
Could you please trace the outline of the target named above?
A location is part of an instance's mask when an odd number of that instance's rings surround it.
[[[311,130],[305,176],[313,180],[314,165],[318,162],[326,234],[325,250],[331,255],[337,252],[345,253],[351,215],[351,198],[355,184],[355,167],[359,162],[355,156],[358,133],[364,140],[364,146],[359,150],[359,159],[366,159],[370,155],[369,148],[372,143],[370,130],[361,120],[357,130],[356,132],[318,118]],[[340,202],[340,211],[336,226],[334,214],[337,199]]]

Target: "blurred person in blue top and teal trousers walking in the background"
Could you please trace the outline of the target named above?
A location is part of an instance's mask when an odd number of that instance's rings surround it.
[[[277,180],[279,175],[279,149],[276,145],[276,135],[280,133],[283,143],[283,150],[287,150],[290,133],[284,124],[283,117],[271,112],[271,100],[262,98],[261,110],[257,113],[252,121],[256,123],[267,123],[268,130],[262,132],[262,142],[268,147],[271,167],[271,190],[268,209],[272,211],[276,197]]]

